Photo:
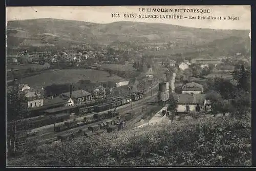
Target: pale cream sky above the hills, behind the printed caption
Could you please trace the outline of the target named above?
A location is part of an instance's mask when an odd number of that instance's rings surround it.
[[[145,12],[140,9],[145,8]],[[191,12],[146,12],[147,9],[209,9],[209,13]],[[56,18],[79,20],[90,23],[112,23],[118,21],[164,23],[194,28],[250,30],[250,6],[58,6],[58,7],[6,7],[6,20],[24,20],[35,18]],[[119,14],[120,17],[112,17]],[[126,18],[124,14],[183,15],[183,19],[163,18]],[[216,19],[198,19],[198,16],[216,17]],[[189,19],[194,16],[197,19]],[[226,20],[217,19],[226,17]],[[228,20],[230,17],[239,17]]]

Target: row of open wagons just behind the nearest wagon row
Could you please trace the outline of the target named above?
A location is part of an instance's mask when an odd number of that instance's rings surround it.
[[[83,126],[89,123],[101,121],[103,119],[108,119],[108,118],[113,118],[118,116],[118,111],[117,109],[108,111],[107,113],[94,113],[88,116],[85,116],[82,120],[82,122],[77,122],[76,119],[64,122],[61,125],[55,126],[55,132],[61,132],[61,131],[66,131],[73,129],[75,127]]]

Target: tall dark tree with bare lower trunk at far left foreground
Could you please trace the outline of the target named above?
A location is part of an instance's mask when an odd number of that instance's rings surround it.
[[[10,147],[8,148],[10,156],[16,155],[18,120],[23,119],[26,115],[28,115],[27,99],[19,93],[18,86],[16,86],[11,92],[7,93],[7,121],[11,125],[9,131]]]

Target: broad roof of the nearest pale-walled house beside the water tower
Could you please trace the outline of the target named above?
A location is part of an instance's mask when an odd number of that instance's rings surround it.
[[[174,94],[178,104],[203,104],[205,94]]]

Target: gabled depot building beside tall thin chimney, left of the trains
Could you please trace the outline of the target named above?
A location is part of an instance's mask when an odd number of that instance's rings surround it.
[[[77,104],[83,104],[85,101],[91,101],[93,99],[93,94],[84,90],[76,90],[73,92],[71,91],[67,93],[62,93],[61,98],[63,99],[72,98],[72,100],[74,100],[74,105],[77,105]]]

